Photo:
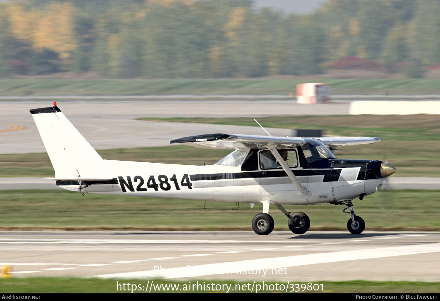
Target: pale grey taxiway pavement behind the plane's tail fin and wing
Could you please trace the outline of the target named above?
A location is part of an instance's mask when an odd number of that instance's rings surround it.
[[[0,153],[45,152],[29,109],[50,101],[0,102]],[[266,135],[256,127],[134,120],[136,117],[237,117],[274,115],[344,115],[348,103],[300,105],[292,100],[61,101],[58,107],[95,149],[169,145],[169,141],[209,133]],[[257,125],[257,124],[256,124]],[[267,128],[273,136],[287,129]]]

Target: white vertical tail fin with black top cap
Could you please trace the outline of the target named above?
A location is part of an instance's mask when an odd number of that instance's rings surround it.
[[[99,175],[103,158],[56,105],[30,112],[55,169],[55,178]]]

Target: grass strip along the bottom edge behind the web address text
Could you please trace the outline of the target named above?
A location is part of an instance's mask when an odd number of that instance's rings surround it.
[[[118,284],[130,283],[130,290],[127,290],[127,285],[124,286],[126,290],[116,290],[116,281]],[[147,284],[150,287],[150,283],[153,281],[153,286],[151,291],[145,292]],[[223,290],[185,290],[191,284],[204,283],[214,284],[214,288],[218,284],[227,284],[230,287],[229,293],[251,293],[248,288],[252,287],[253,280],[251,281],[228,281],[228,280],[207,280],[207,279],[191,279],[188,281],[176,281],[176,280],[164,280],[164,279],[150,279],[150,280],[139,280],[139,279],[93,279],[93,278],[49,278],[49,277],[29,277],[29,278],[9,278],[0,279],[0,293],[6,294],[17,294],[17,293],[119,293],[119,294],[148,294],[148,293],[224,293]],[[255,281],[256,284],[262,284],[263,281]],[[433,293],[438,294],[440,290],[439,282],[410,282],[410,281],[363,281],[363,280],[352,280],[352,281],[314,281],[312,283],[319,283],[319,290],[307,290],[307,282],[290,282],[290,284],[299,284],[299,288],[296,285],[293,286],[293,290],[290,291],[292,286],[289,285],[287,292],[289,293],[417,293],[426,294]],[[246,290],[243,290],[243,284],[245,284]],[[264,281],[267,284],[268,291],[264,293],[280,293],[282,291],[276,290],[275,287],[279,287],[280,284],[286,287],[287,283],[284,281]],[[278,286],[275,286],[277,284]],[[301,292],[301,284],[305,284],[304,292]],[[132,285],[136,285],[136,290],[131,291]],[[143,290],[137,290],[137,288],[142,288]],[[157,286],[156,286],[157,285]],[[162,286],[161,286],[162,285]],[[172,285],[174,290],[169,288],[168,290],[163,289],[163,285]],[[178,287],[177,287],[178,285]],[[273,286],[271,286],[273,285]],[[220,285],[221,286],[221,285]],[[217,286],[219,288],[220,286]],[[161,287],[161,290],[158,288]],[[169,286],[170,287],[170,286]],[[205,286],[206,287],[206,286]],[[273,290],[269,288],[274,287]],[[322,287],[322,290],[321,290]],[[133,286],[133,289],[135,286]],[[240,290],[238,290],[240,288]],[[232,291],[233,289],[233,291]],[[226,287],[225,287],[226,290]],[[255,294],[255,290],[253,291]]]

